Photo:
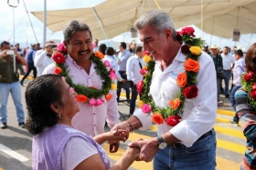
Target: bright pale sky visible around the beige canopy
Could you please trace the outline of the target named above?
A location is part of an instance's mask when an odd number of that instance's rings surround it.
[[[7,0],[0,0],[1,2],[0,41],[1,42],[4,40],[9,41],[11,44],[19,43],[21,47],[25,47],[26,42],[27,42],[27,45],[30,45],[32,43],[37,43],[37,42],[42,44],[44,25],[34,15],[32,15],[29,12],[43,11],[44,0],[19,0],[19,1],[20,1],[19,5],[16,8],[13,8],[7,4]],[[33,33],[32,26],[29,23],[23,1],[27,6],[27,12],[31,19],[31,23],[34,27],[37,40]],[[99,5],[104,1],[105,0],[47,0],[47,10],[92,7],[94,5]],[[17,0],[10,0],[11,5],[16,5],[16,3],[17,3]],[[209,46],[217,45],[219,47],[223,47],[225,45],[228,45],[232,47],[234,45],[237,45],[237,46],[241,45],[244,48],[244,51],[246,51],[251,44],[256,42],[256,35],[241,35],[240,42],[235,43],[235,42],[232,42],[231,39],[220,38],[218,36],[202,33],[202,31],[199,28],[197,28],[195,25],[191,25],[191,26],[193,26],[196,30],[195,35],[197,35],[198,37],[202,37],[202,39],[204,39]],[[179,28],[176,28],[176,29],[178,30]],[[14,34],[14,30],[15,30],[15,34]],[[47,39],[51,39],[51,40],[56,39],[62,42],[63,41],[62,32],[59,31],[56,33],[52,33],[47,28]],[[115,42],[124,41],[126,43],[129,43],[132,41],[131,33],[128,32],[122,35],[117,35],[116,37],[112,38],[112,40],[108,40],[108,41],[115,41]],[[105,42],[105,41],[100,41],[100,43],[101,42]],[[136,39],[136,42],[140,43],[138,39]]]

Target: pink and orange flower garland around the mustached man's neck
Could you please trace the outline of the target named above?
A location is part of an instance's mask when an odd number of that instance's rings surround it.
[[[71,77],[69,76],[68,66],[64,65],[66,61],[66,57],[68,55],[67,49],[63,44],[60,44],[57,47],[58,52],[52,56],[53,60],[55,61],[56,68],[54,69],[54,73],[56,75],[61,75],[63,79],[67,82],[67,84],[74,90],[77,95],[77,101],[82,103],[89,103],[89,105],[101,105],[104,101],[101,99],[102,95],[105,95],[106,101],[112,98],[112,95],[108,94],[110,89],[116,89],[116,85],[113,84],[113,81],[116,78],[114,70],[109,69],[111,64],[109,61],[101,61],[104,58],[100,52],[92,53],[90,59],[91,62],[94,63],[96,73],[101,75],[101,79],[103,81],[103,85],[101,89],[97,89],[94,86],[85,87],[84,85],[75,85],[72,82]],[[66,55],[66,56],[65,56]],[[108,71],[109,69],[109,71]]]

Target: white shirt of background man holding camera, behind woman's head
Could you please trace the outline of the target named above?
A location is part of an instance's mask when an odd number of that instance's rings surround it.
[[[45,50],[38,50],[35,55],[34,65],[37,67],[37,75],[43,74],[44,69],[53,63],[52,57],[48,57]]]

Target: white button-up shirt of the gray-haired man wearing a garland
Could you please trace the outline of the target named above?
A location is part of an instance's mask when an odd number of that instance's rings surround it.
[[[153,96],[155,105],[168,107],[169,100],[174,99],[174,96],[179,92],[176,77],[185,71],[186,57],[179,50],[173,63],[164,72],[160,63],[155,64],[150,88],[150,94]],[[197,73],[198,95],[196,98],[187,99],[182,121],[174,127],[165,122],[162,125],[157,125],[157,135],[164,135],[169,131],[187,147],[193,145],[201,135],[211,130],[216,121],[217,83],[215,66],[212,58],[205,52],[202,52],[198,62],[200,65]],[[148,129],[152,125],[151,116],[144,114],[141,109],[137,109],[133,115],[142,122],[141,130]]]

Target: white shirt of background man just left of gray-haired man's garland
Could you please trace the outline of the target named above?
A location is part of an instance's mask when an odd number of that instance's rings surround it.
[[[142,66],[145,65],[143,58],[133,55],[128,59],[126,64],[127,79],[133,81],[135,85],[144,79],[144,76],[140,74],[141,67],[139,62]]]

